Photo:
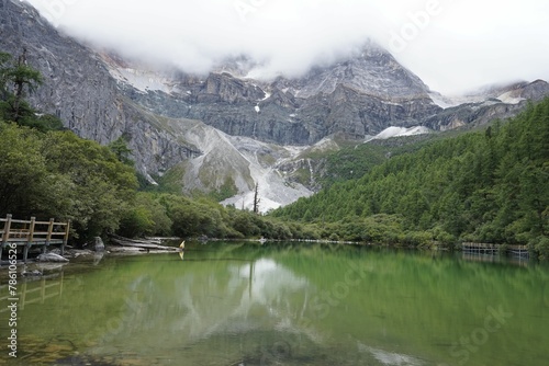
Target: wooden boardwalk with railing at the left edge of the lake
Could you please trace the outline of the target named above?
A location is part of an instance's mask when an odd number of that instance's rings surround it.
[[[65,253],[67,245],[70,221],[55,222],[55,219],[49,221],[36,221],[36,218],[31,217],[30,220],[16,220],[11,215],[5,218],[0,218],[1,247],[0,259],[2,258],[4,248],[18,250],[23,248],[23,261],[26,263],[29,250],[32,247],[41,247],[43,252],[46,252],[49,245],[60,244],[61,255]],[[0,262],[1,264],[1,262]]]

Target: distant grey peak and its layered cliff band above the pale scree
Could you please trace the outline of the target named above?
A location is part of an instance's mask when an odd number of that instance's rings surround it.
[[[134,87],[126,88],[128,96],[155,113],[280,145],[312,145],[334,134],[362,139],[441,111],[419,78],[371,42],[336,65],[271,82],[248,78],[255,66],[245,58],[203,78],[159,73],[148,85],[136,77],[138,66],[104,60],[121,83]]]

